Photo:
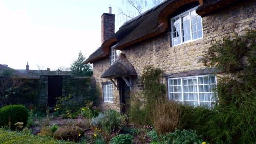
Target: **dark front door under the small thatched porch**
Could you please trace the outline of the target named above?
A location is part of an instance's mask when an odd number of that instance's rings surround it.
[[[129,80],[129,78],[128,78]],[[118,78],[119,98],[120,98],[120,112],[126,113],[130,108],[130,88],[127,86],[125,81]]]

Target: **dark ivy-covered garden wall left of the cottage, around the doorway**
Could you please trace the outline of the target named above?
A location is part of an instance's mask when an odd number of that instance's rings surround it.
[[[41,75],[40,78],[8,78],[19,79],[25,81],[25,84],[20,85],[20,88],[6,87],[8,92],[0,93],[0,103],[6,104],[24,104],[25,106],[36,106],[46,108],[48,104],[48,77],[53,75]],[[78,104],[83,104],[84,100],[93,100],[95,93],[95,80],[92,77],[72,77],[70,75],[55,75],[62,77],[62,97],[72,95],[74,101]],[[53,76],[54,77],[54,76]],[[0,77],[0,86],[7,80],[6,77]],[[10,80],[9,80],[10,81]],[[3,86],[2,86],[3,87]],[[8,90],[8,89],[10,89]],[[20,92],[22,89],[22,92]],[[16,91],[15,91],[16,90]],[[3,91],[3,90],[2,90]],[[5,90],[4,90],[5,91]],[[18,92],[19,91],[19,92]],[[16,94],[12,94],[16,92]],[[4,104],[5,95],[9,93],[8,102]],[[1,106],[1,105],[0,105]]]

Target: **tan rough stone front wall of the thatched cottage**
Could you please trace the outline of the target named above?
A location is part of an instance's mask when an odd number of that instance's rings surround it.
[[[166,74],[206,68],[200,59],[210,47],[212,40],[222,39],[224,36],[232,35],[233,32],[244,34],[246,29],[256,28],[255,7],[255,2],[248,1],[244,4],[230,5],[222,11],[202,17],[203,38],[190,43],[172,47],[170,33],[165,32],[127,47],[122,53],[126,55],[138,74],[138,77],[133,79],[132,92],[140,91],[139,77],[146,65],[159,67]],[[101,83],[109,81],[100,78],[109,66],[109,58],[93,63],[93,77],[101,89]],[[166,83],[166,79],[163,79],[163,83]],[[116,106],[119,104],[117,90],[114,91],[113,97],[115,98],[113,104],[102,103],[102,107],[118,109]]]

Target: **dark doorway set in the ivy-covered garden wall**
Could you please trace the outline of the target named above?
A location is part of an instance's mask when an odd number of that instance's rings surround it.
[[[56,97],[62,97],[62,76],[48,77],[48,106],[56,105]]]

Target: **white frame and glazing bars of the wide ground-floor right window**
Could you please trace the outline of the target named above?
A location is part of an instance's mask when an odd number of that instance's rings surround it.
[[[199,84],[199,81],[198,81],[198,78],[199,77],[209,77],[209,76],[214,76],[215,77],[215,86],[217,86],[217,77],[216,77],[216,75],[197,75],[197,76],[188,76],[188,77],[176,77],[176,78],[168,78],[167,79],[167,83],[168,83],[168,99],[170,100],[170,94],[171,93],[176,93],[176,92],[171,92],[170,91],[170,81],[169,80],[177,80],[177,79],[180,79],[181,80],[181,85],[178,85],[178,86],[181,86],[181,97],[182,97],[182,99],[181,100],[171,100],[171,101],[177,101],[177,102],[181,102],[181,103],[185,103],[185,100],[184,100],[184,84],[183,84],[183,79],[191,79],[191,78],[196,78],[196,80],[197,80],[197,82],[196,82],[196,86],[197,86],[197,100],[187,100],[188,102],[190,101],[190,102],[198,102],[198,105],[194,105],[194,106],[201,106],[200,105],[200,102],[211,102],[211,104],[210,104],[210,107],[212,106],[212,104],[214,104],[214,103],[216,103],[216,101],[213,101],[213,100],[211,100],[210,99],[210,101],[200,101],[200,93],[214,93],[214,92],[199,92],[199,86],[200,85],[205,85],[205,84]],[[209,84],[210,85],[210,84]],[[176,85],[173,85],[173,86],[176,86]],[[216,98],[215,98],[215,100],[218,100],[218,97],[217,97],[217,93],[215,93],[216,94]]]

